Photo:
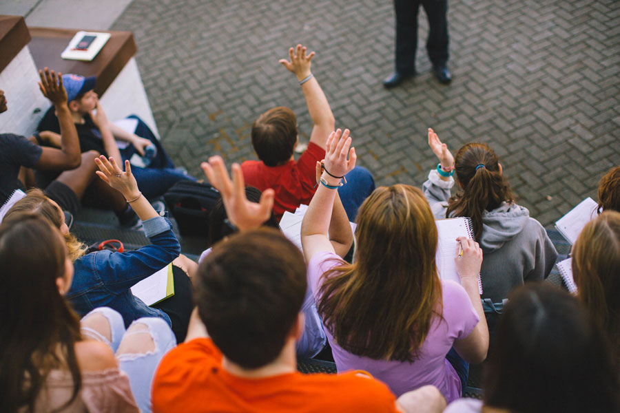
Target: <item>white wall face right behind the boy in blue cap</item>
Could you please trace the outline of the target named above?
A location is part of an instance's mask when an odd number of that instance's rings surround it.
[[[136,59],[133,57],[123,67],[121,73],[116,76],[112,85],[107,88],[99,101],[105,109],[108,119],[114,121],[130,115],[138,115],[159,138],[159,131],[149,106],[149,99],[140,77]]]

